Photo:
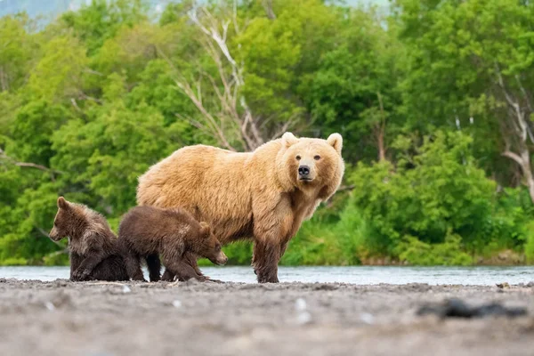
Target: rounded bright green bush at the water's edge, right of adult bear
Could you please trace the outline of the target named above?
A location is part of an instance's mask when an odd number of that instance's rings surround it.
[[[363,248],[416,264],[470,263],[461,251],[481,251],[495,232],[487,222],[496,190],[474,165],[470,145],[462,134],[438,132],[421,147],[399,140],[397,166],[360,164],[350,176],[349,206],[360,209],[366,229],[374,231],[361,240]]]

